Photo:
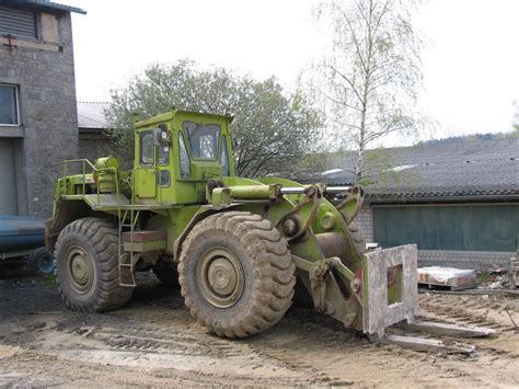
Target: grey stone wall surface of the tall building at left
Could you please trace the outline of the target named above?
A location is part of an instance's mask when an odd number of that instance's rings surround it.
[[[60,161],[78,157],[78,116],[70,14],[49,15],[59,25],[58,43],[13,39],[0,45],[0,82],[19,85],[21,126],[0,127],[14,137],[19,213],[47,217]],[[50,18],[50,19],[49,19]]]

